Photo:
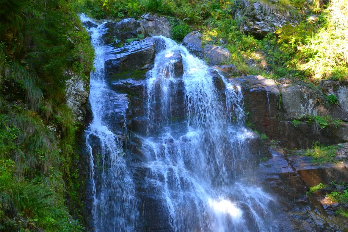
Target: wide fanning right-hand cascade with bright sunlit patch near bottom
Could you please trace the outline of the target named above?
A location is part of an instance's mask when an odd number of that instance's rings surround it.
[[[159,206],[154,210],[161,211],[159,221],[163,222],[157,229],[276,230],[267,222],[272,198],[260,188],[241,183],[249,177],[253,157],[247,144],[252,132],[243,126],[240,88],[221,77],[227,87],[224,106],[214,85],[214,70],[173,40],[156,40],[164,46],[148,72],[147,112],[157,130],[148,130],[144,142],[148,160],[143,191],[156,193],[152,200]],[[182,77],[171,71],[175,60],[165,59],[177,51],[182,55]],[[171,122],[173,97],[181,84],[186,114],[182,123]]]

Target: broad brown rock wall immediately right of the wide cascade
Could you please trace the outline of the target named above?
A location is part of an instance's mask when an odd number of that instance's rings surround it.
[[[348,124],[344,122],[321,128],[313,120],[307,123],[301,119],[306,115],[332,114],[331,106],[321,101],[315,90],[302,85],[278,86],[274,80],[261,76],[235,77],[229,81],[242,89],[248,121],[270,139],[280,140],[281,146],[309,148],[313,141],[326,144],[348,141]],[[298,121],[296,125],[294,119]]]

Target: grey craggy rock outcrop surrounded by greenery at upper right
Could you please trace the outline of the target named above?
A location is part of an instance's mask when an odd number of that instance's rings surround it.
[[[276,9],[269,10],[264,2],[243,1],[245,8],[248,8],[252,15],[248,15],[247,21],[241,26],[245,34],[252,34],[256,38],[262,39],[270,32],[274,32],[277,27],[282,27],[286,23],[298,23],[291,16],[284,16]],[[270,11],[270,12],[268,12]],[[237,15],[243,15],[239,12]]]

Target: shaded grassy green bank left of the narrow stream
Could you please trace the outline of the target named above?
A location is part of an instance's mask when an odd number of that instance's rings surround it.
[[[88,34],[69,2],[1,1],[0,48],[1,230],[79,231],[65,199],[80,127],[65,101],[69,74],[89,79]]]

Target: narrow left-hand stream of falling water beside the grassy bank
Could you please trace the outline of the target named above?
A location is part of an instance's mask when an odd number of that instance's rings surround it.
[[[81,15],[82,22],[87,20],[91,19]],[[110,90],[105,80],[104,65],[107,49],[101,40],[105,30],[103,24],[88,30],[95,49],[95,70],[90,75],[89,94],[93,121],[86,129],[86,145],[90,153],[94,194],[92,224],[94,231],[99,232],[133,231],[138,217],[135,186],[122,157],[121,142],[117,134],[109,129],[106,119],[105,108],[110,105],[109,99],[122,99],[122,94]],[[125,114],[123,107],[119,107],[118,110],[120,114]]]

